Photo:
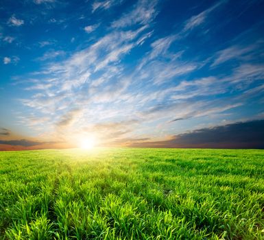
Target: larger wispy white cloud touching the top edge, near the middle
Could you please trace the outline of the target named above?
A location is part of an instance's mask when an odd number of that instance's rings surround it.
[[[156,10],[157,0],[142,0],[134,5],[134,9],[126,14],[123,14],[120,19],[112,23],[112,27],[128,27],[134,24],[149,24],[158,14]]]

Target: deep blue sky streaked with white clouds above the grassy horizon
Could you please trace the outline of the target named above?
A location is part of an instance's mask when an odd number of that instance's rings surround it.
[[[263,9],[1,0],[0,150],[264,148]]]

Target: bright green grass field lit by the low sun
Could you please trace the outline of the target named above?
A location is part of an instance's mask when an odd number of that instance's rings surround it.
[[[264,151],[0,152],[0,239],[264,239]]]

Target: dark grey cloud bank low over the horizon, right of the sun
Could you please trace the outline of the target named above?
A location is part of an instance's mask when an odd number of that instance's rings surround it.
[[[264,149],[264,119],[203,128],[168,141],[133,143],[131,147],[202,147]]]

